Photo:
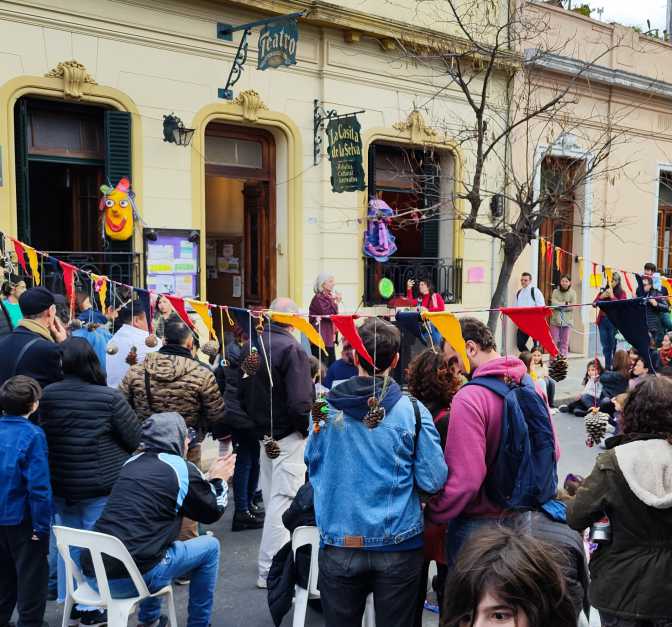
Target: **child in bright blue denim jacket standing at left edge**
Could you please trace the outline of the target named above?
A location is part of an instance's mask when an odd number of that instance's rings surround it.
[[[39,627],[47,603],[51,485],[47,440],[28,420],[42,394],[23,375],[0,388],[0,625]]]

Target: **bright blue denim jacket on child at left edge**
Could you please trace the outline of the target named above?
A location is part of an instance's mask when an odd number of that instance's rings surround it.
[[[19,525],[49,535],[51,484],[44,431],[23,416],[0,417],[0,525]]]

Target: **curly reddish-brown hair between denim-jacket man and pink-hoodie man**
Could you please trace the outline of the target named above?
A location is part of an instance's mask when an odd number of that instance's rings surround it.
[[[443,353],[434,352],[431,348],[424,350],[409,364],[406,380],[408,391],[421,403],[441,409],[450,407],[453,396],[462,385],[459,377],[451,372]]]

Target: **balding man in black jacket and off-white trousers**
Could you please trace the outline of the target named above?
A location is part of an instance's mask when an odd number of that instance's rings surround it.
[[[271,303],[271,310],[297,313],[298,307],[289,298],[277,298]],[[241,370],[240,394],[241,407],[258,439],[270,435],[280,449],[279,455],[271,458],[264,448],[260,460],[266,517],[259,547],[257,586],[265,588],[273,556],[289,540],[282,514],[304,482],[303,451],[313,403],[313,382],[308,355],[294,339],[290,327],[274,322],[266,325],[259,337],[263,342],[263,347],[258,347],[262,352],[261,366],[251,376]],[[243,350],[243,362],[249,351],[248,344]],[[272,387],[263,353],[271,365]]]

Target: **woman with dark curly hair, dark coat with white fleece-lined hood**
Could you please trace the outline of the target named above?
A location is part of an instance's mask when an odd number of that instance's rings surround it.
[[[672,381],[647,377],[625,401],[623,433],[567,506],[577,531],[606,517],[590,560],[590,600],[604,627],[672,625]]]

